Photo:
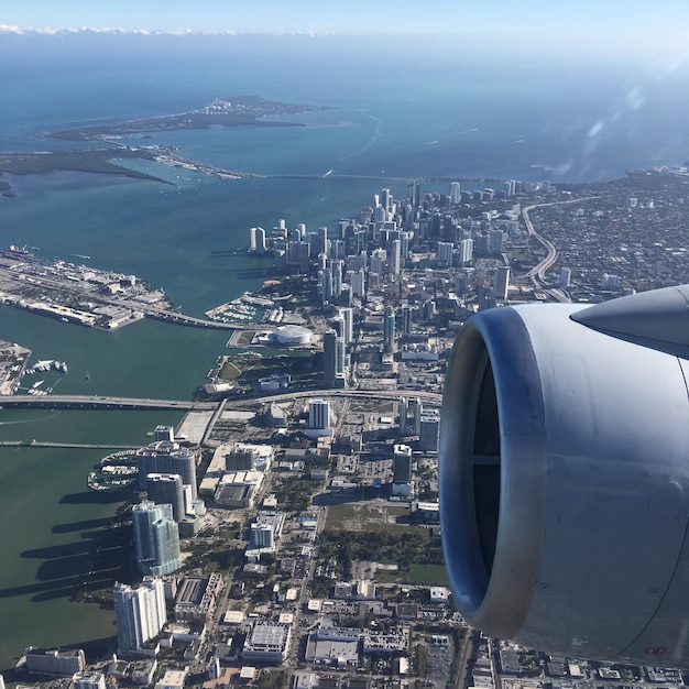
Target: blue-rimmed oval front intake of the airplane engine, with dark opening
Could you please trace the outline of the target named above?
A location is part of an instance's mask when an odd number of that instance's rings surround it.
[[[464,324],[441,418],[440,520],[456,604],[473,626],[512,637],[536,589],[546,502],[540,375],[515,309]]]

